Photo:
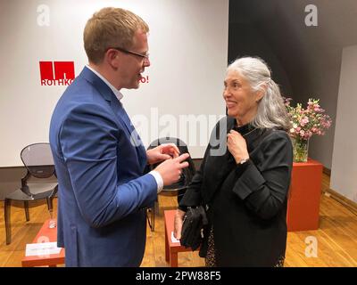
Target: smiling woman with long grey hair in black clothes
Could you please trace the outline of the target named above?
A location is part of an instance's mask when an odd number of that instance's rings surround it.
[[[223,98],[228,116],[213,129],[179,202],[175,237],[181,238],[187,208],[203,205],[209,225],[200,256],[207,266],[282,266],[293,165],[283,98],[267,64],[252,57],[228,66]],[[215,155],[217,135],[222,155]]]

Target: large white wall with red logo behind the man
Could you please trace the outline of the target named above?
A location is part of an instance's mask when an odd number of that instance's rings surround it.
[[[39,4],[49,8],[48,27],[37,23]],[[136,12],[150,26],[149,83],[123,90],[124,106],[143,141],[180,136],[192,157],[203,157],[212,125],[225,112],[228,0],[12,0],[0,5],[0,167],[21,166],[23,146],[48,142],[52,111],[66,86],[41,85],[38,62],[74,61],[78,76],[87,64],[83,28],[105,6]],[[183,131],[188,115],[193,117]],[[195,130],[199,120],[201,129]]]

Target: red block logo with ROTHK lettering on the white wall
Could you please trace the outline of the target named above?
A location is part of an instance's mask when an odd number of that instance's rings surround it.
[[[71,85],[74,61],[39,61],[41,85]]]

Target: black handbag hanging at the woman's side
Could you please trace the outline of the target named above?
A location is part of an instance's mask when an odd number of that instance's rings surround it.
[[[208,219],[203,206],[187,208],[182,224],[181,245],[195,250],[203,241],[203,230],[208,224]]]

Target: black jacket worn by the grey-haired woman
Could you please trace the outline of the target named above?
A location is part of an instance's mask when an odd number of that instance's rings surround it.
[[[234,118],[226,117],[215,126],[179,208],[209,206],[217,265],[274,266],[286,251],[292,144],[282,130],[236,127],[245,136],[250,155],[245,164],[237,165],[227,149],[227,133],[235,125]],[[220,152],[218,141],[220,148],[226,147],[223,155],[215,155]]]

